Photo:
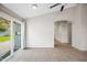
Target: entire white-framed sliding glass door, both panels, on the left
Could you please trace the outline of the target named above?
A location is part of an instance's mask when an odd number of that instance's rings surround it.
[[[22,22],[9,21],[0,18],[0,61],[6,61],[8,56],[13,55],[14,52],[22,48]]]

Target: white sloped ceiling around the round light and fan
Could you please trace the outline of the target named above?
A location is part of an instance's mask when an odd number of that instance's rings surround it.
[[[3,3],[4,7],[15,12],[18,15],[20,15],[23,19],[33,18],[33,17],[50,13],[53,11],[58,11],[61,9],[61,6],[50,9],[50,7],[53,4],[55,3],[37,3],[37,9],[32,9],[31,8],[32,3]],[[65,4],[65,6],[66,8],[70,8],[76,4],[72,3],[72,4]]]

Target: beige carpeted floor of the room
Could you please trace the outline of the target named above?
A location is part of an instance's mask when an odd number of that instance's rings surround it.
[[[17,53],[9,62],[87,62],[87,52],[80,52],[70,45],[55,48],[26,48]]]

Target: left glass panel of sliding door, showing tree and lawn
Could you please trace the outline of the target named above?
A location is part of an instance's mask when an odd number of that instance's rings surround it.
[[[11,44],[11,21],[0,18],[0,61],[4,59],[10,55]]]

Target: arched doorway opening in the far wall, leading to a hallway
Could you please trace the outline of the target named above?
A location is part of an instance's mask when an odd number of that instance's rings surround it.
[[[57,21],[54,23],[54,46],[72,46],[72,22]]]

